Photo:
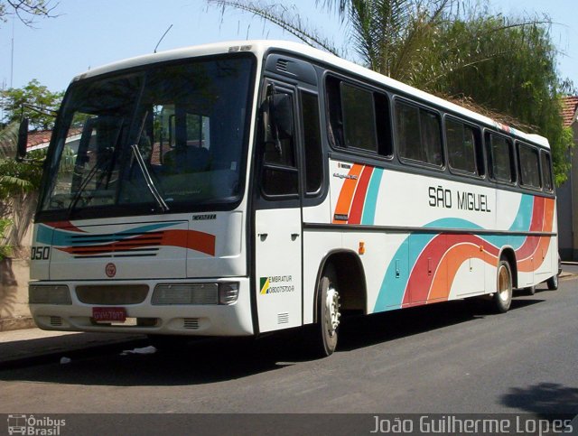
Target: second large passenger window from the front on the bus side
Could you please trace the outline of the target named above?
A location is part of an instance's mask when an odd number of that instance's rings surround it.
[[[396,144],[402,159],[443,166],[442,127],[433,111],[397,101]]]

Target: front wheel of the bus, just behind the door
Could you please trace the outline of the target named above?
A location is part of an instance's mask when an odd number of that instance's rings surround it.
[[[328,357],[337,348],[340,325],[340,294],[332,269],[323,272],[317,285],[317,322],[310,332],[312,357]]]

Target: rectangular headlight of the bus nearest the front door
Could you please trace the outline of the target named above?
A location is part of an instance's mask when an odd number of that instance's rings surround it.
[[[151,304],[232,304],[237,297],[238,283],[157,284]]]

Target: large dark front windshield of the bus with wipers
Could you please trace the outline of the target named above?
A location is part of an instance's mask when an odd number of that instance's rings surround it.
[[[132,215],[238,201],[252,68],[248,57],[193,60],[73,83],[39,213]]]

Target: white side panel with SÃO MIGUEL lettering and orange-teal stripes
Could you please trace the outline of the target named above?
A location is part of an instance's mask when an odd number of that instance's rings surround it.
[[[551,237],[525,234],[552,231],[554,199],[352,162],[331,162],[331,174],[333,223],[358,225],[344,233],[343,246],[354,251],[360,242],[365,246],[360,258],[368,281],[368,312],[496,292],[505,248],[515,252],[518,284],[533,283],[536,269],[547,274],[552,264],[547,257]],[[359,225],[416,231],[365,234]],[[451,231],[424,232],[420,227]],[[471,233],[477,228],[496,233]],[[501,233],[508,231],[517,234]],[[536,258],[543,248],[544,258]],[[406,277],[396,277],[401,259],[407,259]],[[373,274],[380,275],[379,285],[369,277]]]

